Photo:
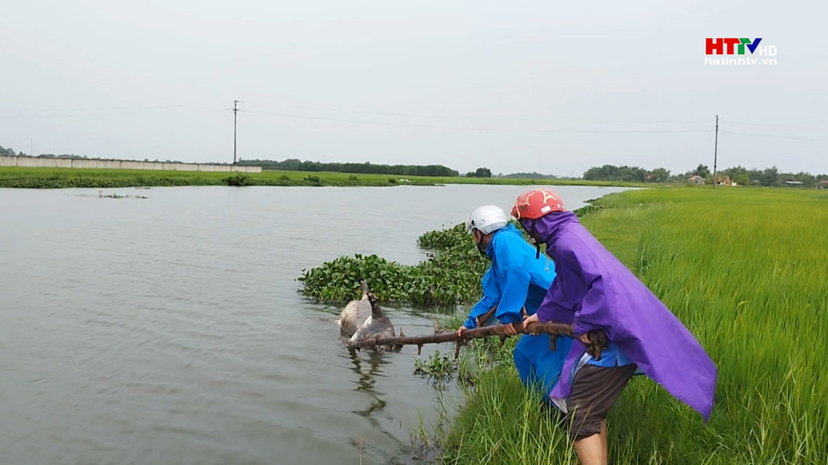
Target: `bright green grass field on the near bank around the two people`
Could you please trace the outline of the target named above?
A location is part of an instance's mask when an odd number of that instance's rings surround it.
[[[719,369],[707,425],[633,379],[610,412],[609,462],[828,463],[828,192],[647,189],[599,203],[582,223]],[[437,432],[447,463],[577,463],[510,360],[466,400]]]

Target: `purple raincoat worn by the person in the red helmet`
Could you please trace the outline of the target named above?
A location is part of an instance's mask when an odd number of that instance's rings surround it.
[[[717,371],[681,321],[578,222],[575,213],[551,213],[521,223],[527,231],[535,228],[535,237],[546,242],[546,254],[555,261],[557,275],[537,309],[538,319],[574,323],[576,336],[604,329],[644,374],[697,410],[706,423],[713,410]],[[576,338],[563,373],[572,372],[584,350]],[[568,397],[570,383],[557,383],[549,395]]]

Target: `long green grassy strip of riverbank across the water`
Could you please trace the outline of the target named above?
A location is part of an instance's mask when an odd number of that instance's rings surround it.
[[[512,178],[467,178],[437,176],[360,175],[349,173],[272,171],[221,173],[174,170],[98,170],[81,168],[0,167],[0,188],[60,189],[163,187],[183,185],[274,185],[274,186],[372,186],[396,185],[595,185],[652,187],[638,183],[589,180],[537,180]]]

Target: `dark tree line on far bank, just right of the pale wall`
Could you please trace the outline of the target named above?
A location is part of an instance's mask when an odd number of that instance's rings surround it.
[[[290,158],[285,161],[243,160],[238,165],[261,166],[262,170],[333,171],[369,175],[457,176],[460,173],[443,165],[374,165],[373,163],[320,163]]]

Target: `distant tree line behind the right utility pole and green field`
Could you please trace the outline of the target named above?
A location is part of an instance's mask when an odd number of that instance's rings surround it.
[[[682,182],[693,176],[700,176],[706,184],[713,184],[713,173],[707,165],[698,165],[696,170],[690,170],[683,174],[672,175],[670,170],[656,168],[645,170],[639,166],[615,166],[603,165],[593,166],[584,172],[585,180],[607,180],[607,181],[635,181],[635,182]],[[735,166],[717,170],[716,177],[720,180],[729,178],[738,185],[764,185],[779,186],[786,185],[787,181],[802,182],[804,187],[816,187],[821,180],[828,180],[828,175],[811,175],[810,173],[780,173],[776,166],[764,170],[749,170],[744,166]]]

